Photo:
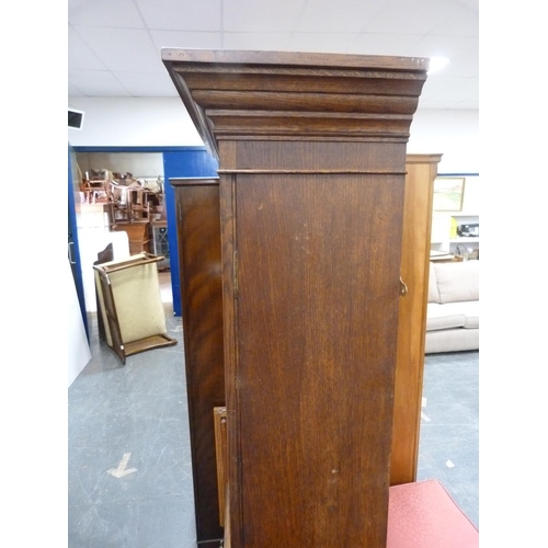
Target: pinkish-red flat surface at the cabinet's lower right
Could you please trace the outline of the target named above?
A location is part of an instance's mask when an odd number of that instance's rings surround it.
[[[436,480],[389,489],[387,548],[476,548],[479,532]]]

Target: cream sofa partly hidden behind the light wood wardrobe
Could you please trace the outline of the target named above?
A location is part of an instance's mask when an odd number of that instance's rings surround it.
[[[430,263],[424,350],[479,350],[479,261]]]

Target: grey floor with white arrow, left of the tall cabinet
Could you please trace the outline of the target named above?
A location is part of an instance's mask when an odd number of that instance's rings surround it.
[[[126,365],[89,315],[92,358],[68,392],[70,548],[196,546],[182,321],[162,295],[178,344]]]

